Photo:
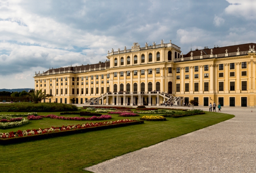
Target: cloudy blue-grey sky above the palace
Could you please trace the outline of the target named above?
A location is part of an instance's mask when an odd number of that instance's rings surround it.
[[[133,42],[192,50],[256,43],[253,0],[0,0],[0,88],[34,88],[35,71],[95,64]]]

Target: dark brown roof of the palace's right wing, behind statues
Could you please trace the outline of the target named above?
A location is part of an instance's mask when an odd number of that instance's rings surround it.
[[[237,52],[237,48],[239,48],[240,52],[249,51],[249,46],[250,45],[251,45],[251,48],[252,48],[253,45],[256,46],[256,43],[246,43],[246,44],[238,44],[238,45],[234,45],[234,46],[225,46],[225,47],[220,47],[220,48],[212,48],[212,54],[214,54],[214,55],[224,54],[224,53],[226,53],[226,49],[228,49],[228,53],[233,53],[233,52]],[[211,49],[200,49],[200,50],[189,51],[185,56],[183,55],[183,57],[184,58],[185,57],[190,57],[191,52],[193,52],[193,56],[200,56],[201,55],[201,50],[202,50],[203,55],[211,55]]]

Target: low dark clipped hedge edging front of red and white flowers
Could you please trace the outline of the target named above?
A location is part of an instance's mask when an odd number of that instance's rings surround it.
[[[16,138],[0,139],[0,145],[8,145],[8,144],[14,144],[14,143],[20,143],[20,142],[27,142],[31,140],[46,139],[46,138],[65,136],[65,135],[71,135],[76,133],[91,132],[91,131],[110,129],[115,127],[123,127],[127,125],[143,124],[143,123],[144,121],[133,121],[133,122],[121,123],[121,124],[111,124],[111,125],[103,125],[103,126],[97,126],[97,127],[88,127],[84,129],[74,129],[74,130],[51,132],[51,133],[44,133],[44,134],[38,134],[38,135],[21,136]]]

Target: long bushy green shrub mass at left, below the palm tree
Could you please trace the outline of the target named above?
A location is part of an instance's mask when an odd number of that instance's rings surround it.
[[[0,104],[0,110],[25,110],[25,111],[75,111],[77,107],[71,104],[64,103],[29,103],[29,102],[20,102],[20,103],[12,103],[12,104]]]

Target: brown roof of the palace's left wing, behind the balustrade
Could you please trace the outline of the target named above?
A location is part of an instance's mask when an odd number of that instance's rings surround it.
[[[65,71],[68,71],[68,68],[70,68],[70,71],[76,71],[76,70],[79,71],[80,68],[81,68],[81,70],[89,70],[90,66],[91,66],[91,69],[94,69],[94,66],[95,66],[95,68],[100,68],[100,65],[101,65],[101,67],[110,67],[110,62],[108,61],[105,63],[102,62],[100,64],[98,63],[98,64],[80,65],[80,66],[75,66],[75,67],[61,67],[61,68],[47,70],[44,73],[48,73],[48,71],[49,71],[49,73],[52,73],[53,70],[56,72],[64,71],[64,68],[65,68]]]

